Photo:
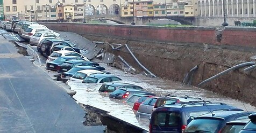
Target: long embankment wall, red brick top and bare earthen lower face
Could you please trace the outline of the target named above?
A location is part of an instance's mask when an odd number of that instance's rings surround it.
[[[256,55],[255,28],[164,28],[129,25],[44,24],[54,30],[74,32],[91,41],[127,44],[146,68],[158,77],[182,82],[198,65],[192,85]],[[126,48],[109,51],[140,67]],[[256,71],[237,69],[202,88],[256,105]]]

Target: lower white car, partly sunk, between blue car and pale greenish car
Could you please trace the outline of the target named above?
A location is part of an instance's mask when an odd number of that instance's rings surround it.
[[[72,77],[70,77],[69,81],[78,81],[82,83],[82,81],[86,79],[87,76],[90,76],[91,74],[98,74],[98,73],[106,74],[104,72],[93,70],[93,69],[85,69],[85,70],[76,72]]]

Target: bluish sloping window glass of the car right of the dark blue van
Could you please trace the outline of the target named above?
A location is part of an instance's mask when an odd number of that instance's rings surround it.
[[[217,119],[194,119],[188,124],[185,129],[185,133],[197,133],[197,132],[209,132],[215,133],[218,130],[218,126],[221,120]]]

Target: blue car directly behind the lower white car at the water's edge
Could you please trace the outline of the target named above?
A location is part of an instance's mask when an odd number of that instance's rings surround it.
[[[85,69],[93,69],[99,71],[98,68],[92,66],[76,66],[71,68],[68,72],[61,73],[61,77],[72,77],[77,71],[85,70]]]

